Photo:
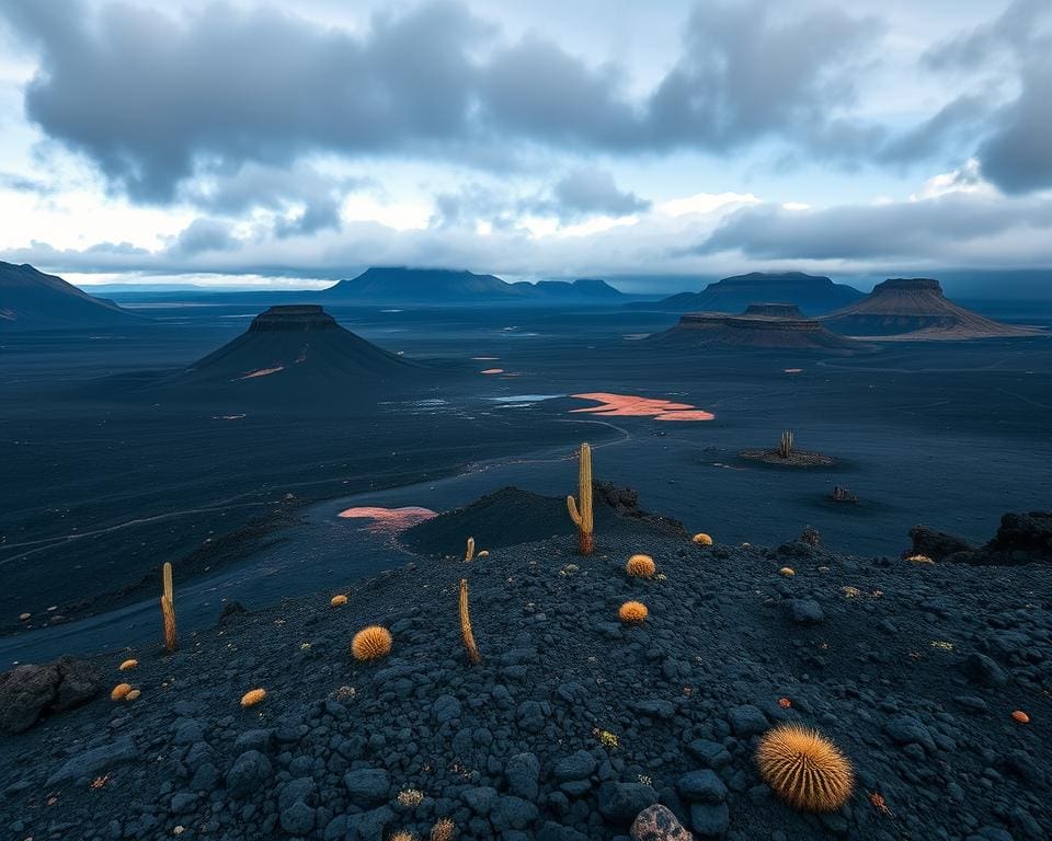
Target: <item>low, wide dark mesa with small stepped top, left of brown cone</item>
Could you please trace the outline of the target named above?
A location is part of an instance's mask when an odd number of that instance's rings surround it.
[[[648,341],[682,348],[825,350],[837,354],[872,349],[861,342],[831,333],[814,319],[780,315],[793,310],[799,312],[792,304],[750,304],[740,315],[687,313],[679,318],[678,324]]]

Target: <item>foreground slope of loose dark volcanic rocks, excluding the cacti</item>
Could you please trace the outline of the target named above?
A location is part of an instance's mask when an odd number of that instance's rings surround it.
[[[889,535],[895,555],[906,544]],[[659,802],[698,839],[1052,832],[1047,564],[706,548],[639,518],[597,546],[578,556],[565,528],[470,563],[421,555],[230,608],[173,655],[102,658],[100,696],[0,736],[0,837],[386,841],[448,818],[460,839],[580,841],[625,838]],[[626,575],[637,552],[655,577]],[[643,624],[618,622],[627,599]],[[358,663],[351,637],[373,623],[393,648]],[[123,681],[141,694],[111,701]],[[255,688],[266,696],[242,708]],[[757,739],[786,721],[854,763],[839,811],[793,811],[759,779]]]

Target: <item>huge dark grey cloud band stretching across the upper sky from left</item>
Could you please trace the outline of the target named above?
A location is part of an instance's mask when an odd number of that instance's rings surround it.
[[[171,200],[202,170],[285,165],[313,151],[724,153],[778,136],[849,157],[883,137],[830,116],[850,105],[855,57],[879,30],[836,10],[785,19],[769,0],[700,3],[679,58],[633,100],[615,62],[590,65],[536,35],[502,44],[451,2],[377,16],[363,35],[272,8],[175,18],[70,5],[0,8],[41,54],[26,113],[142,201]]]

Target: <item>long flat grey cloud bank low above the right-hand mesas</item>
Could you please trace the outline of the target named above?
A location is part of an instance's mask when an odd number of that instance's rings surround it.
[[[763,206],[735,211],[690,253],[737,251],[748,257],[800,260],[927,257],[952,251],[954,243],[1034,229],[1052,229],[1052,201],[956,193],[923,201],[823,210]]]

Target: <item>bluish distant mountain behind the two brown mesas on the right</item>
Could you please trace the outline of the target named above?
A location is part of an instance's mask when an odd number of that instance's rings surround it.
[[[792,303],[808,315],[820,315],[846,307],[865,295],[854,286],[834,284],[828,277],[802,272],[724,277],[700,292],[679,292],[652,303],[630,307],[662,312],[742,312],[754,303]]]

